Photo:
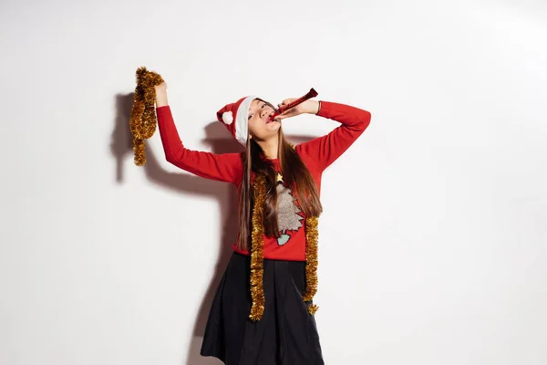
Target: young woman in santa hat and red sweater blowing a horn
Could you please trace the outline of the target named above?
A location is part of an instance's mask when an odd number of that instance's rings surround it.
[[[166,89],[165,83],[156,87],[156,113],[167,161],[235,184],[240,198],[239,235],[212,302],[201,355],[227,365],[324,364],[313,304],[321,176],[366,130],[370,113],[310,99],[270,120],[271,104],[246,97],[217,112],[245,151],[214,154],[184,147]],[[284,140],[281,120],[303,113],[341,125],[294,147]]]

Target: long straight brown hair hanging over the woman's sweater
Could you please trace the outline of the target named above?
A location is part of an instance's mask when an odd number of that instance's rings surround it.
[[[283,130],[278,131],[278,159],[283,174],[284,183],[294,193],[306,217],[319,216],[323,212],[317,185],[304,162],[294,151],[289,142],[285,141]],[[253,139],[247,140],[246,151],[243,154],[243,179],[240,185],[239,224],[240,235],[237,248],[249,251],[251,249],[251,214],[254,202],[251,186],[252,172],[255,175],[263,173],[266,177],[266,196],[264,202],[264,234],[279,237],[277,225],[277,172],[274,163],[265,158],[260,145]]]

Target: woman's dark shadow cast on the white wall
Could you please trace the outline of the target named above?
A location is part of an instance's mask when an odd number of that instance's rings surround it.
[[[116,159],[115,180],[116,183],[124,183],[124,166],[135,166],[133,162],[133,141],[129,130],[129,117],[133,107],[133,93],[116,95],[116,118],[114,120],[114,131],[111,135],[110,151]],[[181,123],[179,123],[181,124]],[[218,121],[212,121],[205,127],[206,138],[203,140],[211,146],[213,153],[229,153],[243,151],[242,146],[234,141],[228,131]],[[228,137],[228,138],[227,138]],[[309,141],[311,136],[285,136],[287,140],[294,143]],[[159,131],[154,137],[160,138]],[[163,156],[163,151],[160,153]],[[201,306],[194,322],[191,343],[189,344],[186,365],[214,365],[222,364],[222,361],[204,358],[200,355],[201,340],[205,331],[205,324],[209,316],[209,309],[216,288],[218,287],[224,269],[232,255],[232,245],[237,238],[237,191],[231,183],[221,183],[192,175],[190,172],[168,172],[161,168],[156,157],[156,152],[146,144],[146,164],[142,167],[147,179],[164,188],[193,195],[213,196],[219,203],[221,209],[222,239],[219,243],[218,257],[212,276],[211,283],[207,288],[205,296],[201,300]],[[137,166],[135,166],[137,167]],[[139,168],[139,167],[138,167]]]

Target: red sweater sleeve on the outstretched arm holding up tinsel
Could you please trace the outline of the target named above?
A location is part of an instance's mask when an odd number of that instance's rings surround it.
[[[173,165],[206,179],[240,183],[243,174],[241,153],[215,154],[184,147],[169,106],[156,109],[165,158]]]

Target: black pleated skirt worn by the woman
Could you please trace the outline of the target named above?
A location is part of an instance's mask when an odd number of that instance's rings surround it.
[[[315,318],[302,295],[305,263],[264,259],[263,318],[249,319],[251,257],[233,253],[212,301],[202,356],[226,365],[323,365]]]

